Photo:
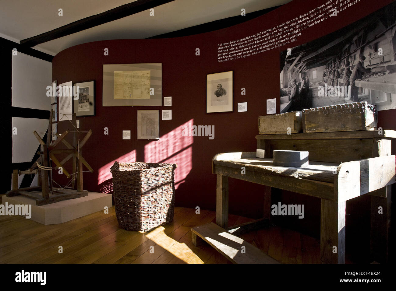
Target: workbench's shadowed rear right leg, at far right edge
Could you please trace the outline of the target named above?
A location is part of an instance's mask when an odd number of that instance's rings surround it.
[[[391,186],[385,187],[386,197],[370,196],[371,198],[371,261],[388,262],[388,239],[390,227]],[[382,207],[381,211],[379,207]],[[382,212],[382,213],[380,213]]]

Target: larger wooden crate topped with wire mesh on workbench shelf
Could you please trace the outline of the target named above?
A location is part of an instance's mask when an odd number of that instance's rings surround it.
[[[374,130],[377,129],[376,111],[366,101],[304,109],[303,131]]]

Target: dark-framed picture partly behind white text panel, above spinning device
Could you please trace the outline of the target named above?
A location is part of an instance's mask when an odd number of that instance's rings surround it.
[[[95,116],[95,81],[74,83],[73,113],[76,116]]]

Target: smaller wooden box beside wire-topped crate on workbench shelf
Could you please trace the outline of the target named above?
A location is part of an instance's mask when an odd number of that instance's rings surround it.
[[[302,126],[301,111],[259,116],[259,134],[299,133]]]

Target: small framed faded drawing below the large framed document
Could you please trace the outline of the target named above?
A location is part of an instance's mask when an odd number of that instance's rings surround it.
[[[160,110],[137,110],[137,139],[160,139]]]

